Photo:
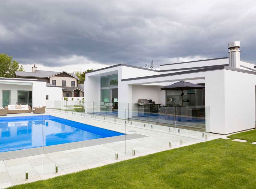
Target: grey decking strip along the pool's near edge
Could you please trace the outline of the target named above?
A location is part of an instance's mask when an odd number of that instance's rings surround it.
[[[9,152],[1,152],[0,161],[15,159],[15,158],[23,158],[23,157],[33,156],[33,155],[48,154],[52,152],[60,152],[64,150],[78,149],[78,148],[101,145],[106,143],[120,142],[125,140],[133,140],[133,139],[138,139],[143,137],[147,137],[147,136],[133,133],[133,134],[114,136],[114,137],[84,140],[84,141],[73,142],[73,143],[65,143],[65,144],[57,144],[57,145],[23,149],[23,150],[14,150]]]

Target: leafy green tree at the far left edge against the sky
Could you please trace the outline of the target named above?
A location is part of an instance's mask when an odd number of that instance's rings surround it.
[[[25,71],[19,62],[12,60],[12,56],[0,53],[0,77],[14,77],[15,71]]]

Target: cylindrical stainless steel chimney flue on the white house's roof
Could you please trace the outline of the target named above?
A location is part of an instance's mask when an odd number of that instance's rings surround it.
[[[240,41],[233,41],[228,43],[229,48],[229,67],[240,69]]]

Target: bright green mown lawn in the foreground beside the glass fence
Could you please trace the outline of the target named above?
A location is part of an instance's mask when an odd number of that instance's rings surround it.
[[[256,188],[255,152],[217,139],[11,188]]]

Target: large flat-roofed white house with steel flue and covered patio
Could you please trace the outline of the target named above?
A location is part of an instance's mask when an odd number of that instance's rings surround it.
[[[240,61],[240,42],[228,44],[229,57],[162,64],[160,70],[117,64],[86,73],[86,102],[100,102],[118,109],[139,108],[139,99],[161,106],[180,106],[180,91],[160,91],[178,81],[204,85],[184,91],[183,106],[205,106],[211,133],[229,134],[255,128],[255,64]],[[127,105],[127,104],[130,105]],[[129,110],[130,112],[130,110]],[[132,117],[133,113],[126,117]]]

